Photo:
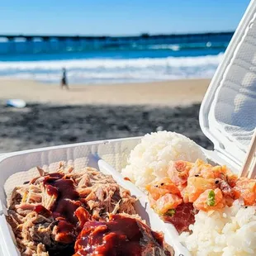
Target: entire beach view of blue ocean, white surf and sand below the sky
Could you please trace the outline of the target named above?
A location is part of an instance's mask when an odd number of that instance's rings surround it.
[[[212,149],[198,113],[231,36],[7,38],[0,44],[0,152],[156,130]],[[59,86],[63,69],[69,91]],[[8,99],[27,106],[6,107]]]

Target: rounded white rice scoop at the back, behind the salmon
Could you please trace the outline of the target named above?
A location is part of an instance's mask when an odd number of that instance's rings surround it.
[[[121,173],[143,189],[148,183],[168,176],[171,161],[195,162],[197,159],[206,161],[199,145],[184,135],[164,130],[145,135],[131,151]]]

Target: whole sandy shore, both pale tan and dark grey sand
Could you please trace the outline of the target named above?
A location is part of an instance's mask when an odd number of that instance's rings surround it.
[[[187,135],[206,149],[198,114],[210,81],[70,85],[0,81],[0,153],[92,140],[141,136],[156,130]],[[6,107],[22,98],[27,107]]]

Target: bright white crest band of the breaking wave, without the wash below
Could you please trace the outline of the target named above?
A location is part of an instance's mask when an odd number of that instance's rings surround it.
[[[69,60],[40,60],[0,62],[0,70],[5,69],[50,69],[62,67],[66,69],[123,69],[161,67],[194,67],[208,64],[219,64],[223,54],[197,57],[168,57],[140,59],[69,59]]]

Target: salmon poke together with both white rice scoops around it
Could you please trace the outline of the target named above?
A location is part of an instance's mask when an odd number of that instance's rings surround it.
[[[256,180],[207,163],[192,140],[167,131],[145,135],[127,162],[123,177],[192,255],[256,254]]]

